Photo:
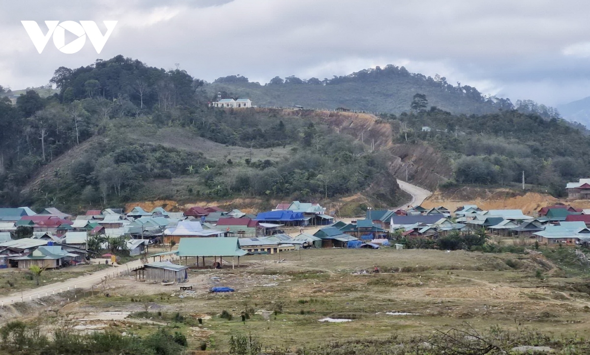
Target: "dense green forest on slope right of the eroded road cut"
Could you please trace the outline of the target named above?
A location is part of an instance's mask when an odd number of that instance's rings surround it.
[[[590,139],[555,117],[517,110],[457,115],[431,107],[382,119],[399,132],[397,143],[424,142],[447,155],[454,165],[449,185],[510,186],[525,172],[527,184],[563,196],[566,182],[590,175]]]

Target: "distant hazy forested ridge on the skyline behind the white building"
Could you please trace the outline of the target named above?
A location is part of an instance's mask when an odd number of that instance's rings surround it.
[[[221,92],[225,97],[247,97],[258,106],[291,107],[304,106],[310,109],[365,110],[378,113],[399,114],[411,109],[410,103],[416,93],[428,98],[429,106],[456,114],[484,114],[499,109],[519,109],[534,112],[550,119],[558,117],[555,109],[530,100],[512,103],[507,98],[487,97],[477,88],[447,83],[445,77],[434,78],[409,73],[404,67],[387,65],[384,68],[361,70],[350,75],[301,79],[298,77],[275,77],[261,85],[251,83],[238,75],[221,77],[205,84],[209,96]]]

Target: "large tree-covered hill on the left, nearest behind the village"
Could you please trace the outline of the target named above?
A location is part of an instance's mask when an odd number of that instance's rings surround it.
[[[51,81],[59,94],[0,103],[0,205],[330,198],[367,188],[391,159],[317,120],[212,109],[202,81],[122,56]]]

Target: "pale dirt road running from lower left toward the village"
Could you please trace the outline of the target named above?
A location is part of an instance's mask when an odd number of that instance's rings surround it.
[[[172,257],[162,257],[162,260],[166,259],[172,260]],[[128,275],[129,272],[133,271],[134,269],[142,267],[142,265],[143,264],[140,260],[134,260],[114,268],[93,272],[90,275],[83,275],[76,278],[70,278],[66,281],[55,282],[54,284],[32,288],[31,290],[15,292],[14,294],[0,297],[0,304],[8,305],[21,301],[30,301],[35,298],[41,298],[46,295],[57,294],[59,292],[67,291],[73,288],[90,288],[93,285],[100,284],[101,280],[103,280],[106,277],[122,277],[123,275]]]

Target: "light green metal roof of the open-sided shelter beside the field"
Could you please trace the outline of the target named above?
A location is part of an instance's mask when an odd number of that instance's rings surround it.
[[[238,246],[238,238],[181,238],[179,257],[241,257],[246,252]]]

